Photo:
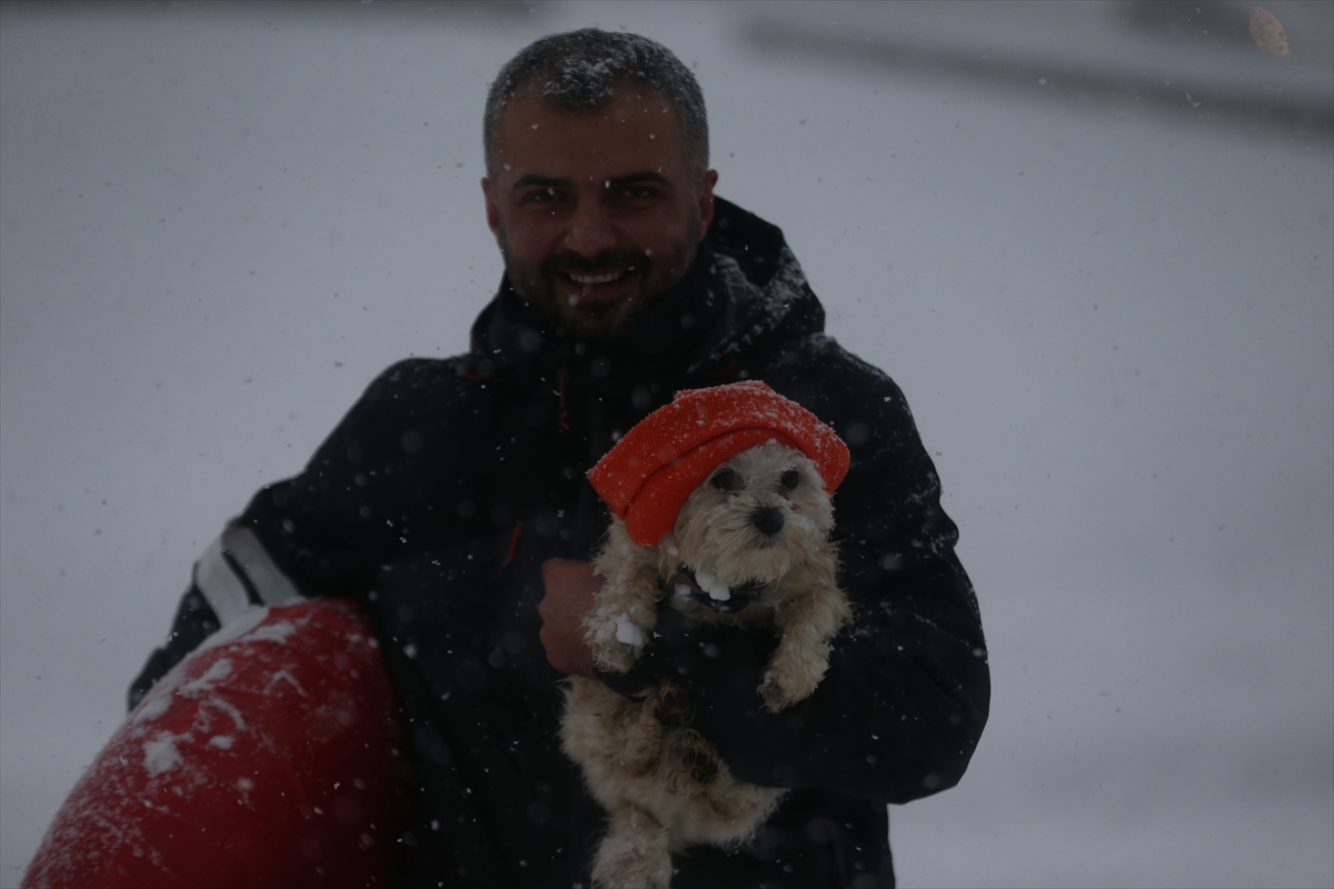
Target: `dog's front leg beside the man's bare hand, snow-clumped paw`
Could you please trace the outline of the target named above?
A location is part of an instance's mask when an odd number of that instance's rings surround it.
[[[599,669],[624,673],[648,642],[658,620],[655,605],[662,590],[655,553],[632,541],[618,518],[594,566],[603,576],[603,585],[584,617],[588,648]]]

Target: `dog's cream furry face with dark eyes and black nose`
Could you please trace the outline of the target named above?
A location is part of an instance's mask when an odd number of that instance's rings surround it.
[[[828,538],[834,504],[815,465],[770,441],[743,450],[690,494],[659,544],[664,569],[684,562],[728,586],[772,582]]]

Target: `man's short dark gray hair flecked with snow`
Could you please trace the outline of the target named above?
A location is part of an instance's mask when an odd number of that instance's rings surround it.
[[[487,91],[482,119],[487,175],[495,176],[500,112],[520,88],[538,81],[539,104],[568,112],[596,111],[611,101],[616,83],[632,83],[676,105],[686,151],[700,172],[708,168],[704,93],[671,49],[635,33],[583,28],[530,43],[507,61]]]

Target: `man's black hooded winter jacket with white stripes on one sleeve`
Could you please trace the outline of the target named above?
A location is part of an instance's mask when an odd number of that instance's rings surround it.
[[[584,473],[622,433],[680,389],[763,380],[851,449],[834,504],[854,626],[815,694],[776,716],[755,693],[772,636],[671,609],[632,673],[603,678],[628,694],[672,677],[736,776],[791,788],[748,845],[676,856],[672,885],[892,885],[886,804],[963,774],[987,717],[987,660],[903,395],[823,323],[782,232],[722,200],[691,272],[614,344],[548,327],[503,284],[468,355],[390,368],[300,476],[256,494],[221,561],[196,566],[132,700],[225,622],[221,610],[293,586],[358,598],[407,726],[400,881],[588,885],[604,818],[559,749],[562,677],[538,641],[542,562],[596,550],[608,514]],[[275,593],[272,577],[291,586]]]

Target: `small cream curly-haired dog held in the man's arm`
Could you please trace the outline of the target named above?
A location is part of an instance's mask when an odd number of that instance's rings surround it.
[[[756,689],[771,712],[804,700],[828,668],[830,641],[851,620],[838,588],[834,505],[815,464],[768,441],[719,465],[655,546],[614,518],[595,560],[604,578],[584,620],[599,669],[626,672],[648,644],[656,604],[715,624],[772,624],[780,641]],[[750,838],[784,790],[735,780],[690,728],[686,694],[663,681],[626,698],[571,677],[562,741],[611,816],[595,886],[667,889],[671,853]]]

